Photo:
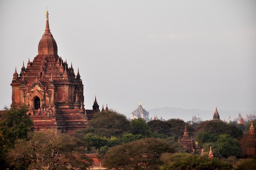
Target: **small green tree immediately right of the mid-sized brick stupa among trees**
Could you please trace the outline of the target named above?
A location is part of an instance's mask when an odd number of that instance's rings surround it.
[[[195,140],[198,142],[198,146],[202,147],[204,143],[216,142],[218,137],[219,135],[212,134],[211,131],[202,131],[198,133]]]

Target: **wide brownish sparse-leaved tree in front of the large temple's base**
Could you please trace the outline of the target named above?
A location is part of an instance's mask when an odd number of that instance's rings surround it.
[[[16,141],[7,153],[10,169],[85,169],[92,159],[77,149],[76,139],[57,130],[29,133],[27,139]]]

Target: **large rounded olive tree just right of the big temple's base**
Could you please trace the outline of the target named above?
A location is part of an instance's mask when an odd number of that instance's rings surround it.
[[[130,121],[124,116],[113,110],[106,112],[98,112],[95,114],[94,119],[88,123],[89,127],[77,132],[77,135],[84,136],[91,133],[97,136],[116,136],[121,138],[123,134],[130,132]]]

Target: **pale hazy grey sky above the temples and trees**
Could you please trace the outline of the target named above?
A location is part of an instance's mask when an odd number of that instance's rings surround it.
[[[128,116],[139,101],[256,111],[255,0],[1,0],[1,110],[15,68],[38,54],[46,7],[58,56],[79,68],[86,109],[97,96],[100,108]]]

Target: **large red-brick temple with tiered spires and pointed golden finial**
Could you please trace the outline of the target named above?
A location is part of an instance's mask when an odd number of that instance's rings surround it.
[[[68,67],[67,61],[58,56],[46,12],[45,32],[38,44],[38,55],[23,66],[20,74],[16,69],[11,83],[12,106],[25,105],[27,114],[34,121],[33,130],[58,129],[72,131],[88,126],[88,120],[99,112],[93,103],[92,110],[85,110],[83,83],[79,70]]]

